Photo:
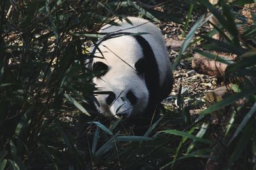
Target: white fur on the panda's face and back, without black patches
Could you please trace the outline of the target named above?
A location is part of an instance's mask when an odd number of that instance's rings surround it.
[[[100,32],[148,32],[143,34],[150,44],[156,61],[159,67],[159,85],[163,83],[170,73],[169,56],[164,43],[163,35],[156,25],[142,18],[128,17],[132,25],[128,22],[118,22],[120,26],[105,25]],[[134,64],[143,57],[141,46],[132,36],[120,36],[103,41],[100,46],[100,51],[104,55],[104,59],[94,58],[93,63],[100,61],[108,65],[109,71],[100,78],[93,78],[93,83],[96,87],[104,91],[113,91],[118,97],[116,101],[109,107],[106,104],[108,95],[95,96],[100,103],[100,107],[96,106],[100,113],[111,113],[116,116],[116,110],[120,108],[118,113],[125,112],[126,116],[140,113],[147,107],[148,89],[143,76],[138,76],[134,68]],[[95,56],[102,57],[98,50]],[[122,58],[119,59],[118,57]],[[124,62],[124,61],[126,62]],[[126,93],[131,90],[138,98],[135,106],[132,106],[125,99]],[[97,105],[97,104],[96,104]]]

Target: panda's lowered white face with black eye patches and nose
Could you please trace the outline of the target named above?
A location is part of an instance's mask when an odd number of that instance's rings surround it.
[[[127,44],[120,44],[125,41],[129,42],[130,48],[127,48]],[[115,46],[118,48],[113,48]],[[143,113],[148,105],[149,94],[141,75],[143,53],[136,40],[131,36],[113,38],[104,41],[99,49],[101,52],[95,52],[95,56],[99,56],[93,58],[92,68],[93,71],[103,70],[103,74],[93,78],[93,83],[106,93],[95,95],[97,110],[124,118]]]

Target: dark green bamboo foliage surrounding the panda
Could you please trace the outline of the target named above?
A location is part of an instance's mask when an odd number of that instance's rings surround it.
[[[232,90],[236,93],[193,119],[184,106],[180,87],[180,114],[161,110],[164,118],[137,136],[132,135],[133,127],[127,128],[120,119],[110,118],[110,124],[104,124],[93,117],[90,101],[93,91],[99,89],[90,80],[102,72],[86,70],[88,59],[93,57],[88,46],[102,37],[97,34],[102,25],[116,24],[113,17],[143,15],[155,22],[161,19],[179,24],[183,20],[129,0],[1,1],[0,169],[202,169],[207,159],[216,159],[211,152],[218,143],[211,138],[209,113],[225,106],[234,110],[225,131],[225,138],[230,140],[225,152],[228,162],[223,168],[255,169],[256,96],[251,80],[256,79],[256,27],[231,10],[246,3],[252,1],[221,0],[220,6],[204,0],[187,1],[190,8],[184,32],[189,31],[173,67],[188,48],[195,49],[228,64],[226,78],[234,80]],[[175,3],[162,6],[168,5]],[[189,18],[196,8],[208,9],[220,24],[207,34],[197,34],[212,16],[202,15],[191,23]],[[224,39],[212,39],[216,32]],[[212,51],[233,53],[237,60],[220,59]],[[246,100],[237,106],[239,99]],[[83,144],[86,150],[76,145],[79,134],[74,125],[79,114],[88,122]],[[161,131],[156,132],[157,126]]]

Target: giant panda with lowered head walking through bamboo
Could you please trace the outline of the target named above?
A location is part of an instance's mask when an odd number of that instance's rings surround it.
[[[92,47],[93,71],[105,70],[93,78],[99,113],[131,118],[149,115],[170,94],[173,77],[163,34],[148,20],[127,17],[118,25],[104,25],[97,47]]]

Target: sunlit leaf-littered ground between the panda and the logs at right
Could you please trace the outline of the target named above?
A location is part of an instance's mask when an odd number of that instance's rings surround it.
[[[174,22],[164,22],[159,27],[164,34],[170,58],[174,62],[183,43],[183,26]],[[200,31],[204,31],[205,29],[209,29],[207,25],[202,27]],[[172,111],[177,110],[177,94],[181,85],[184,103],[187,106],[189,104],[189,113],[191,115],[197,114],[205,109],[203,97],[207,92],[216,89],[216,78],[196,73],[191,66],[192,59],[193,53],[188,49],[173,71],[175,83],[173,84],[172,93],[170,97],[163,101],[164,105],[170,105]]]

